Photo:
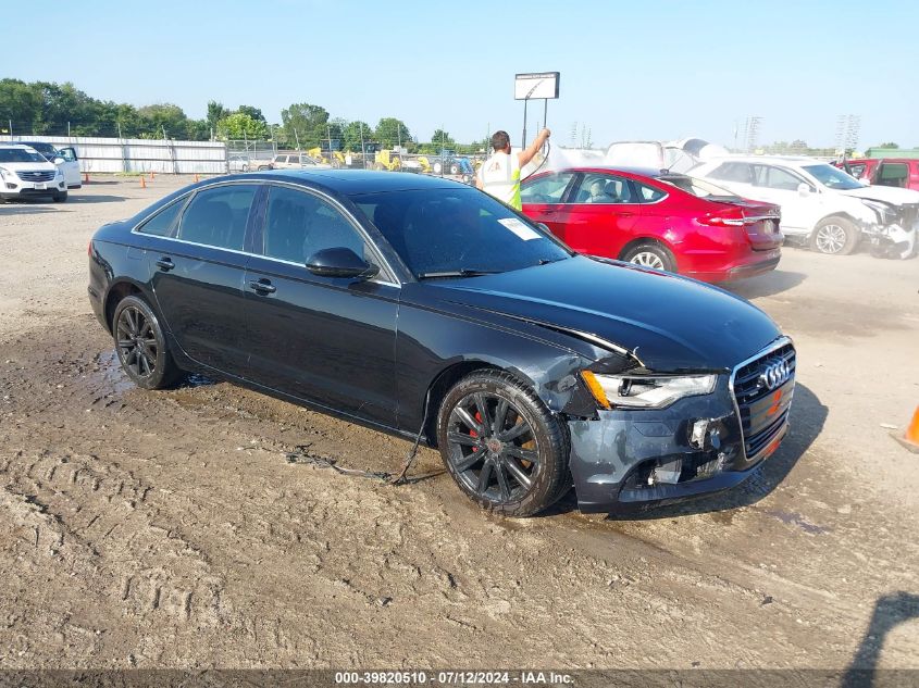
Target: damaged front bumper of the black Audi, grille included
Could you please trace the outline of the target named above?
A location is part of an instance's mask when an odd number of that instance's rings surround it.
[[[579,508],[634,511],[743,483],[787,431],[794,368],[794,347],[783,339],[719,376],[709,395],[570,421]]]

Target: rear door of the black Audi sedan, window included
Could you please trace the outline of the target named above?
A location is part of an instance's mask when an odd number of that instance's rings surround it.
[[[147,246],[153,293],[178,345],[195,361],[240,376],[248,360],[244,250],[258,188],[200,189],[170,230],[172,237],[151,236]]]

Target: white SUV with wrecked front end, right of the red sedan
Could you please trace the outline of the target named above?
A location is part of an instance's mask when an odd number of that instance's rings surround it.
[[[919,191],[867,187],[812,158],[720,158],[690,174],[781,205],[782,233],[808,240],[821,253],[852,253],[862,234],[908,235],[911,252],[919,229]]]

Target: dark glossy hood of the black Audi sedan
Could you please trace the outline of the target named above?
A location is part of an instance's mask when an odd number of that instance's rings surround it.
[[[582,255],[425,284],[444,300],[600,337],[657,372],[732,368],[781,335],[766,313],[717,287]]]

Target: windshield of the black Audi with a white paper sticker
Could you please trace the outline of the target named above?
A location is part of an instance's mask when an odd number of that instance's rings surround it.
[[[415,277],[509,272],[571,255],[532,222],[475,189],[361,193],[351,200]]]

